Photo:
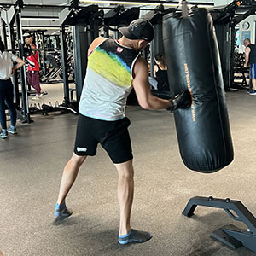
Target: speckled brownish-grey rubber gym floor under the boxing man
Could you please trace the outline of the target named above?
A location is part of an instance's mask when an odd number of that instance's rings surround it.
[[[33,116],[18,123],[19,134],[0,141],[0,250],[4,256],[243,255],[211,238],[232,220],[223,209],[198,207],[181,213],[195,195],[240,200],[256,215],[256,96],[245,90],[226,94],[235,160],[214,174],[189,171],[179,156],[172,113],[127,109],[135,166],[132,227],[148,230],[144,244],[117,243],[117,173],[98,148],[85,161],[67,197],[73,216],[55,222],[54,207],[62,169],[73,152],[77,116]]]

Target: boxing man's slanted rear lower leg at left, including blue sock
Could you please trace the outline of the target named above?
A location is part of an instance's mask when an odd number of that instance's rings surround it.
[[[78,176],[79,168],[84,163],[85,159],[86,155],[79,156],[77,154],[73,154],[72,158],[67,162],[67,165],[64,167],[61,178],[60,192],[55,208],[55,216],[63,215],[64,217],[68,217],[72,214],[72,212],[67,212],[65,199],[69,190],[73,186],[73,183]]]

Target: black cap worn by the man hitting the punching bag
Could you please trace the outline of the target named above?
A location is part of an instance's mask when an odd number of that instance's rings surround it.
[[[119,32],[131,40],[143,39],[150,42],[154,39],[154,26],[148,20],[133,20],[129,26],[119,27]]]

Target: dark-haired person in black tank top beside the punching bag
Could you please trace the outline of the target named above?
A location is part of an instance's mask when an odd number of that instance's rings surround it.
[[[165,61],[165,55],[157,54],[154,55],[154,79],[157,81],[157,90],[170,90],[168,75],[167,75],[167,66]]]

